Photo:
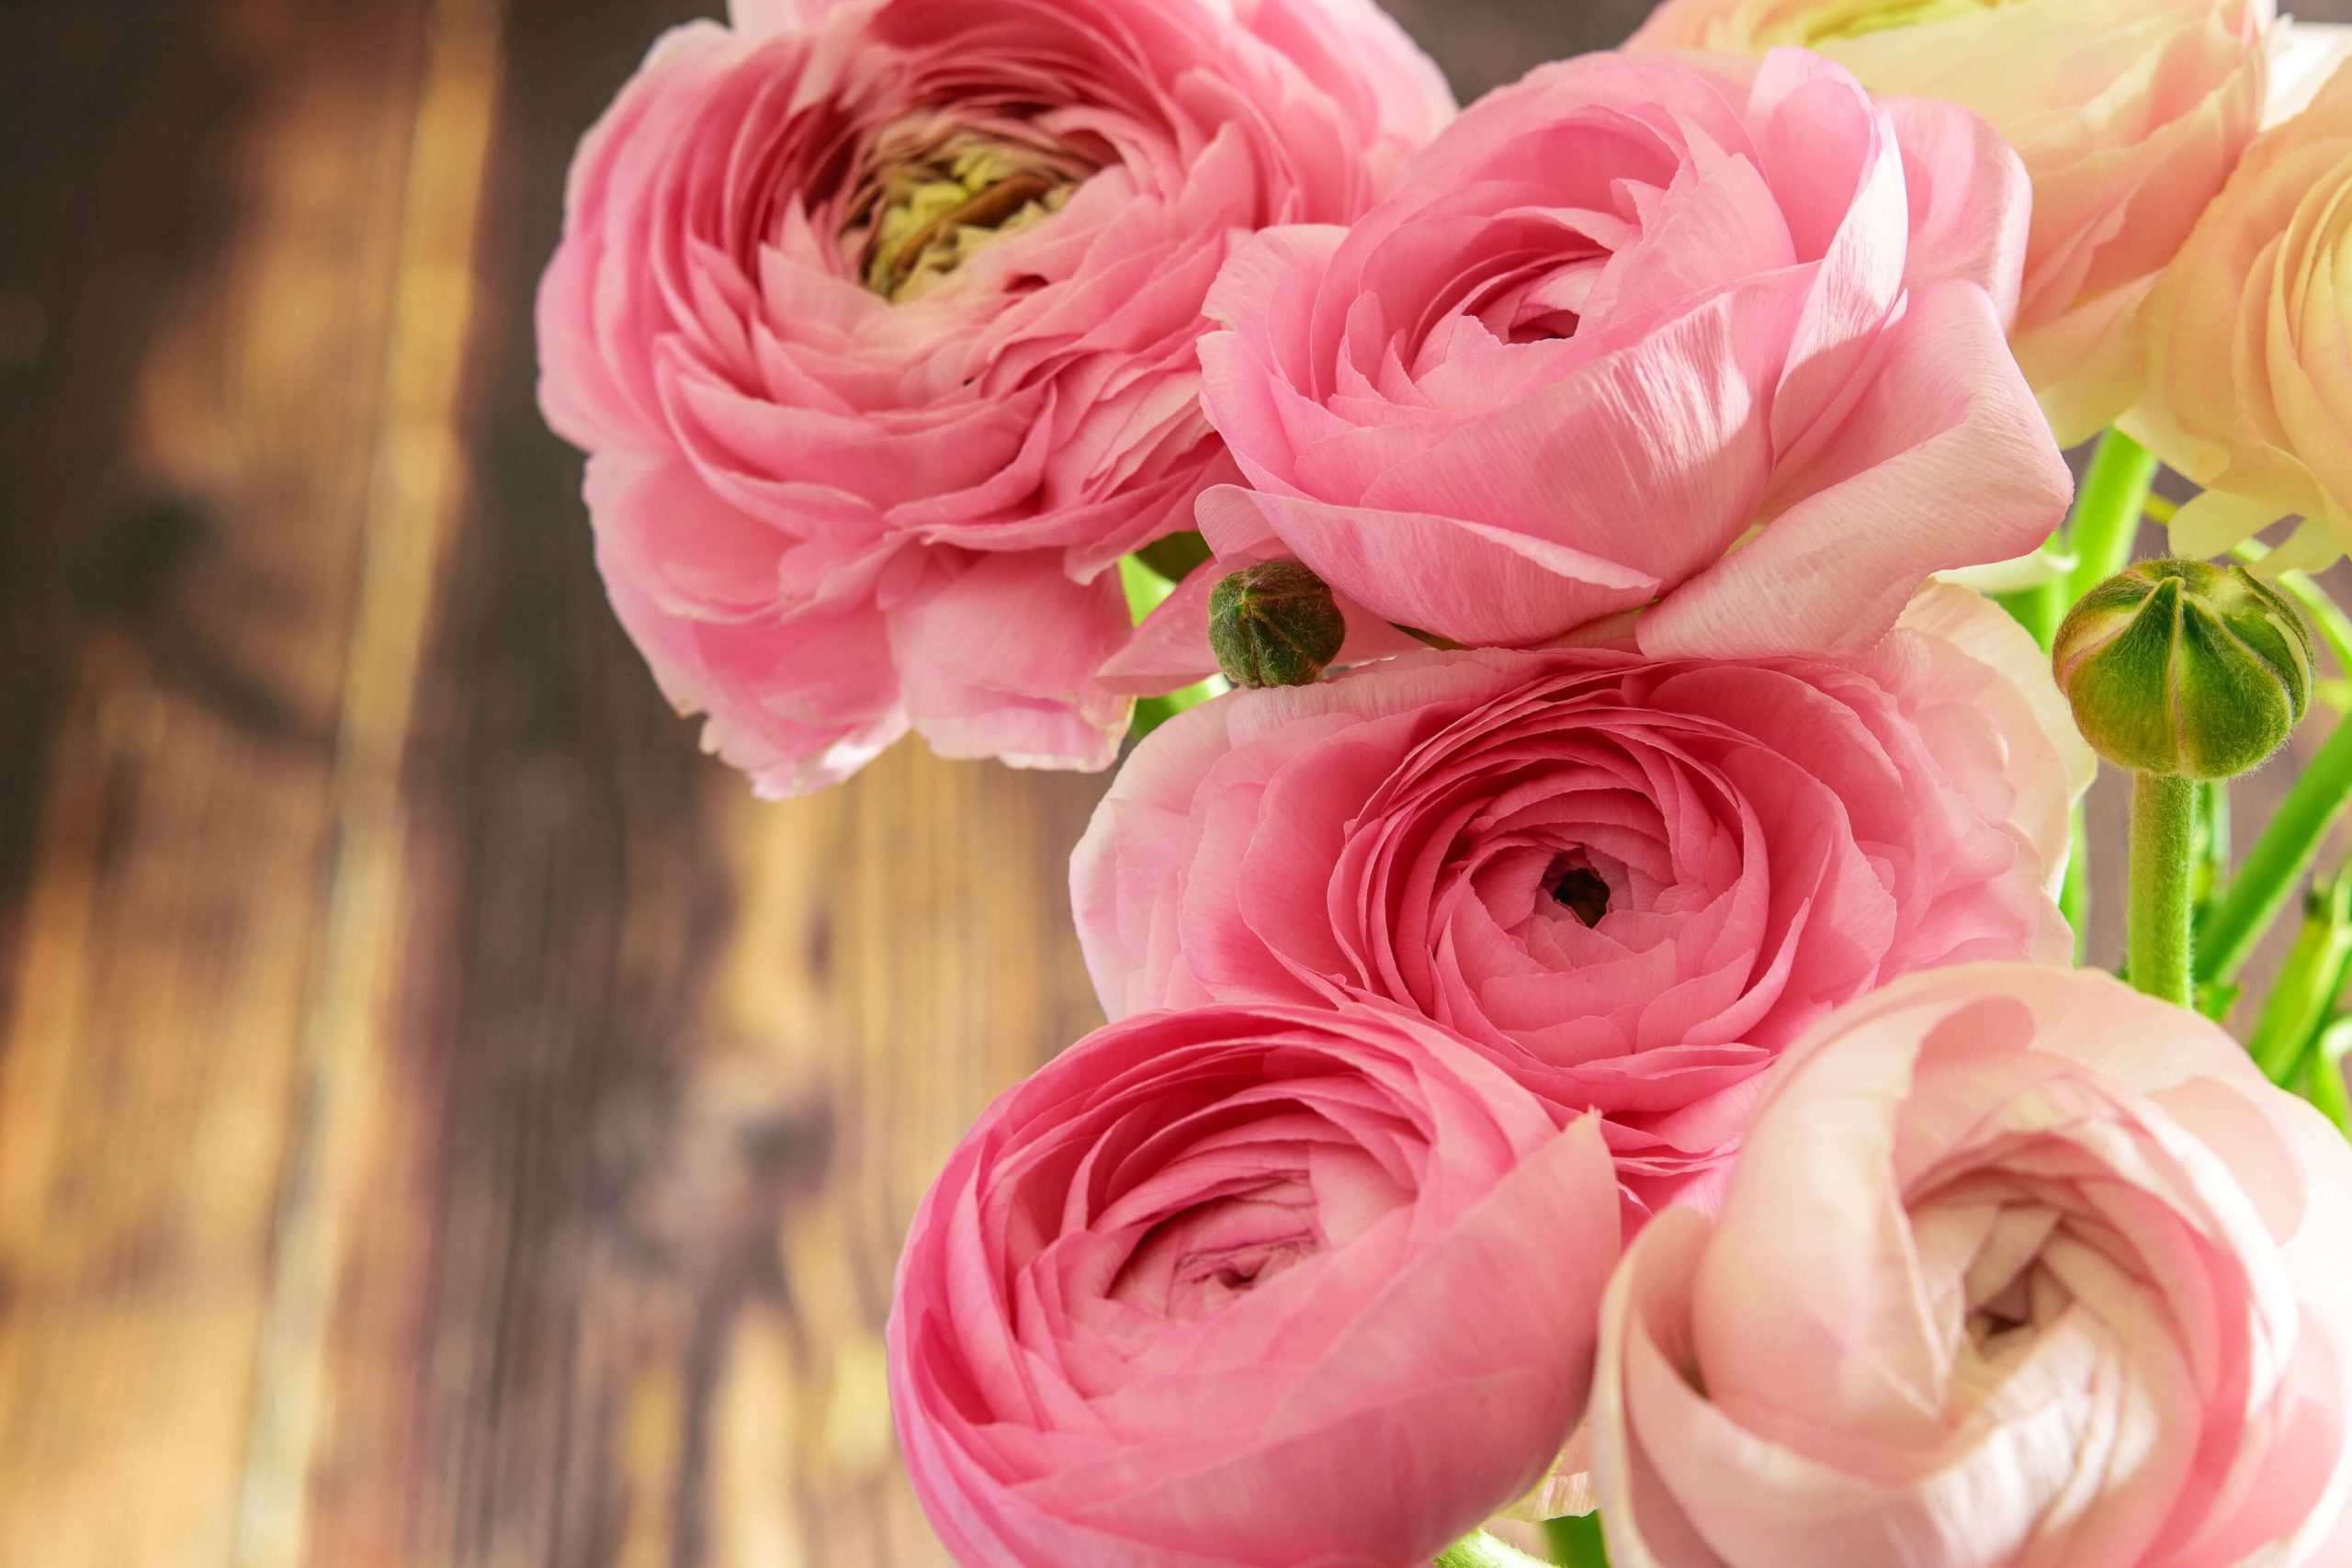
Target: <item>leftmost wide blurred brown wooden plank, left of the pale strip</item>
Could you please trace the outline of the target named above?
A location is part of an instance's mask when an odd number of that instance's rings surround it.
[[[9,618],[33,632],[0,670],[5,797],[33,832],[0,1013],[0,1561],[212,1568],[238,1509],[416,28],[405,5],[294,0],[21,21],[47,35],[14,49],[120,96],[85,96],[113,115],[56,153],[89,188],[59,186],[73,249],[45,268],[42,400],[7,475],[33,576]]]

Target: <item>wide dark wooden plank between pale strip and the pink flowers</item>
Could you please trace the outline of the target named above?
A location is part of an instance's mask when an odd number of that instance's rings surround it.
[[[506,14],[501,306],[466,339],[397,990],[329,1140],[355,1164],[301,1561],[941,1561],[882,1394],[898,1237],[1091,1020],[1063,879],[1098,780],[901,752],[757,806],[612,623],[524,303],[579,129],[677,16],[628,9]]]

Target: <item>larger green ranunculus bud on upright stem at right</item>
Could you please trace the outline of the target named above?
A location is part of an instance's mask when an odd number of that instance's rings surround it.
[[[2140,562],[2084,595],[2053,658],[2084,738],[2136,773],[2249,773],[2312,703],[2312,635],[2244,567]]]

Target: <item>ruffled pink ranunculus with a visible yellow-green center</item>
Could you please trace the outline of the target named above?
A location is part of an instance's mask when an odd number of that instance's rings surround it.
[[[1202,301],[1451,113],[1369,0],[739,0],[581,143],[541,402],[614,609],[764,792],[910,724],[1105,766],[1117,557],[1232,465]]]

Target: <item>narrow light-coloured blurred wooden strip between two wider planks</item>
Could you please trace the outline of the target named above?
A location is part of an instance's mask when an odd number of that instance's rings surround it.
[[[334,1291],[376,1199],[362,1182],[405,952],[402,762],[435,595],[468,498],[461,402],[501,24],[503,0],[430,0],[407,174],[390,205],[400,249],[383,411],[360,517],[327,891],[296,1039],[296,1119],[278,1194],[235,1568],[306,1561],[313,1462],[336,1420],[327,1366]]]

